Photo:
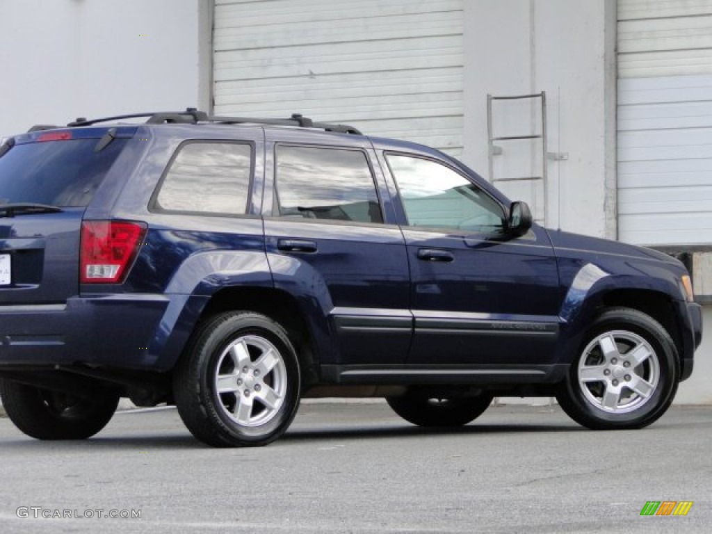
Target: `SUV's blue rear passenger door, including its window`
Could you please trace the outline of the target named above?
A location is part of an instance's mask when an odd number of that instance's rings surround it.
[[[268,131],[265,217],[276,287],[326,320],[323,364],[402,364],[412,332],[408,260],[370,143]],[[313,142],[311,142],[313,140]]]

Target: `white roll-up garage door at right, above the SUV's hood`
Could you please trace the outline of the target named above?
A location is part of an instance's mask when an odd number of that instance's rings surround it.
[[[712,0],[618,2],[622,241],[712,244]]]

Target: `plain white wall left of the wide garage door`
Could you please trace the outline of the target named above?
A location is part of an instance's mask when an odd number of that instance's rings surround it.
[[[205,108],[205,0],[0,2],[0,137],[155,110]]]

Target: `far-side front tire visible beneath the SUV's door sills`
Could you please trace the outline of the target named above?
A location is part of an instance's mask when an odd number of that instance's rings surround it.
[[[482,392],[475,397],[439,397],[417,389],[386,402],[400,417],[418,426],[463,426],[480,417],[493,399]]]

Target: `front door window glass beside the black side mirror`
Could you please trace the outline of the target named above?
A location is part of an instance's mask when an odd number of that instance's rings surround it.
[[[454,170],[417,157],[389,154],[409,226],[501,231],[502,207]]]

